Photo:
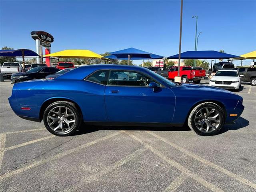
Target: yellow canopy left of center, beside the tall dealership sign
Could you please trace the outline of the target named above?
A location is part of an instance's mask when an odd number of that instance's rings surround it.
[[[103,58],[100,54],[94,53],[90,50],[63,50],[43,57],[57,57],[57,58]]]

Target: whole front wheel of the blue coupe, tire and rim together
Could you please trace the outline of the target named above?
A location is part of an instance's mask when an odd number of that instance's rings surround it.
[[[188,126],[198,135],[215,135],[224,124],[225,116],[222,108],[213,102],[205,102],[196,106],[188,117]]]

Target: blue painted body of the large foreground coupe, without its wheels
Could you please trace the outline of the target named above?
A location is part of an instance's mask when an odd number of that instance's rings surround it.
[[[89,78],[99,71],[102,71],[99,75],[102,81]],[[117,78],[110,81],[111,71],[118,72]],[[120,84],[122,71],[144,74],[156,82],[158,88],[138,86],[135,76],[129,77],[134,79],[134,84]],[[122,82],[128,81],[126,76],[123,77]],[[146,68],[112,64],[82,66],[53,80],[14,84],[9,98],[10,106],[18,116],[37,122],[42,121],[46,107],[58,100],[74,103],[81,111],[83,121],[91,124],[182,126],[192,108],[202,102],[220,105],[228,123],[236,120],[244,109],[242,97],[230,91],[197,84],[174,84]]]

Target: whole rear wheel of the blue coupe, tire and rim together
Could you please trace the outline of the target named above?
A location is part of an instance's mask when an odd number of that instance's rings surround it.
[[[43,120],[46,129],[57,136],[71,135],[82,122],[78,108],[67,101],[50,104],[44,111]]]

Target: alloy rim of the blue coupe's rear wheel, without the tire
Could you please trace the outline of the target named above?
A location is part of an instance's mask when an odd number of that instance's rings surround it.
[[[48,113],[47,122],[55,132],[67,133],[74,128],[76,117],[70,108],[57,106]]]

